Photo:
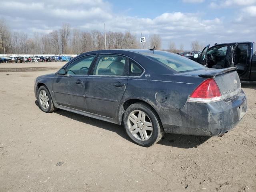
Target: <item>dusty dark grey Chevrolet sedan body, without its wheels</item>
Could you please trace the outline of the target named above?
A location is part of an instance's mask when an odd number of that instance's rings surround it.
[[[116,62],[118,57],[123,60]],[[89,63],[86,67],[68,70],[83,58]],[[99,62],[109,65],[98,69]],[[116,63],[121,62],[124,72],[118,71]],[[220,95],[191,97],[206,82],[214,84]],[[246,95],[235,68],[210,69],[156,50],[80,54],[58,72],[36,78],[36,98],[40,86],[47,87],[56,108],[120,125],[128,106],[143,102],[157,114],[164,132],[174,134],[220,136],[234,128],[247,111]]]

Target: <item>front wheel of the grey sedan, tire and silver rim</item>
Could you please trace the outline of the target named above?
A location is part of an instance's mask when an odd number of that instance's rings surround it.
[[[40,106],[40,109],[43,112],[52,113],[57,110],[57,108],[54,107],[54,104],[52,102],[52,97],[45,86],[40,86],[40,88],[38,89],[37,101]]]

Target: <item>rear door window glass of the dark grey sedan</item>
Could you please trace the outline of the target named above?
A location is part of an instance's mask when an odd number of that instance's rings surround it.
[[[119,55],[100,55],[94,68],[94,75],[126,76],[128,59]]]

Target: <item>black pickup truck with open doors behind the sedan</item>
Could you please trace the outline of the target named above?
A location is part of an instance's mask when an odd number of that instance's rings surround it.
[[[256,81],[256,44],[253,42],[234,42],[207,45],[201,54],[187,58],[208,68],[236,67],[242,82]]]

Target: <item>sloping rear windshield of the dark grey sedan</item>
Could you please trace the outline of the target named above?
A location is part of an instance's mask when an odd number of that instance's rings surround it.
[[[169,52],[146,52],[142,54],[153,60],[158,60],[159,62],[175,70],[176,72],[200,70],[206,68],[205,66],[194,62],[186,57],[182,57],[180,55],[172,54]]]

